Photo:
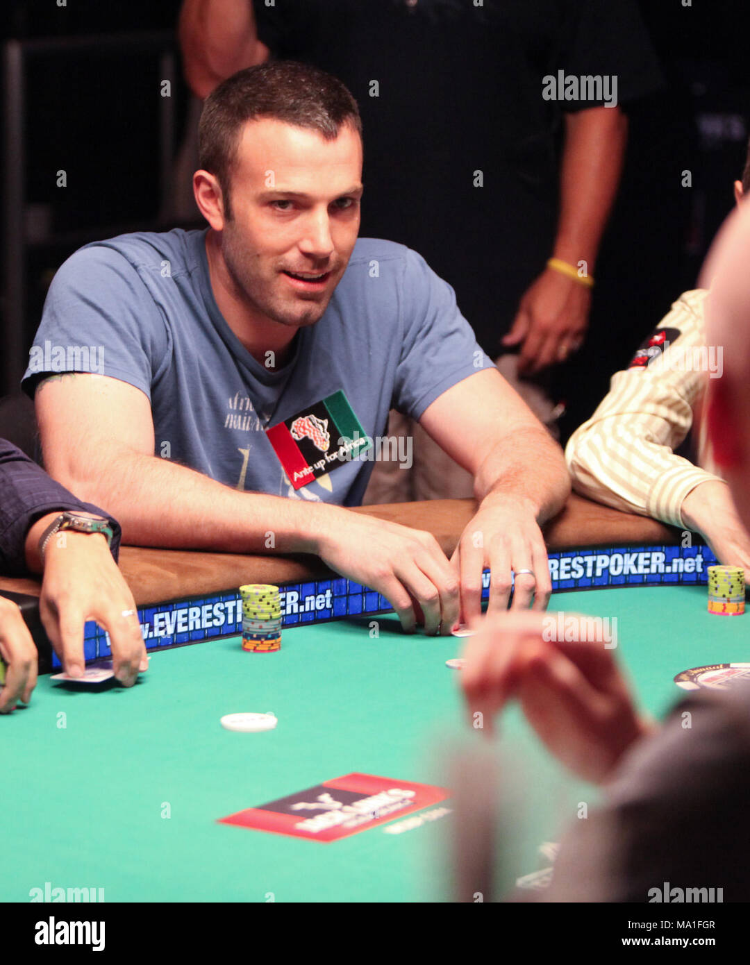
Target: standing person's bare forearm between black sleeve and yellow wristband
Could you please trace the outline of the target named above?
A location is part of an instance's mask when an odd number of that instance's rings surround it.
[[[601,234],[617,195],[625,158],[627,118],[617,107],[566,115],[560,218],[554,257],[585,261],[594,274]]]

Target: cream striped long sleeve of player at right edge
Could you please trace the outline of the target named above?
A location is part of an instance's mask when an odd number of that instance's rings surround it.
[[[681,295],[657,328],[678,333],[669,347],[648,365],[616,372],[594,415],[570,436],[566,461],[576,492],[683,527],[685,497],[718,479],[673,452],[690,431],[708,377],[692,371],[691,361],[696,350],[708,351],[706,294]]]

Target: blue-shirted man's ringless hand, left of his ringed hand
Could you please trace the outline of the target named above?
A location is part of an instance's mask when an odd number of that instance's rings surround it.
[[[346,512],[335,537],[319,538],[324,563],[371,587],[390,602],[403,629],[424,622],[430,634],[449,634],[458,624],[458,575],[431,533],[372,516]]]

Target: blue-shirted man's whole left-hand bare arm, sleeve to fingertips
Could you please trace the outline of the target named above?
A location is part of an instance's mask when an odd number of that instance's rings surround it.
[[[154,456],[149,400],[116,378],[52,376],[37,388],[36,406],[50,475],[79,498],[96,496],[125,542],[315,553],[382,593],[407,630],[422,621],[429,633],[450,633],[458,621],[458,579],[431,534],[339,506],[238,492]]]

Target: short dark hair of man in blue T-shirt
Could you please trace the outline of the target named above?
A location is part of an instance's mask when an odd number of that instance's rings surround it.
[[[270,61],[238,70],[207,97],[198,125],[198,163],[218,180],[227,218],[229,185],[242,127],[274,118],[335,140],[343,124],[362,136],[356,100],[336,77],[295,61]]]

